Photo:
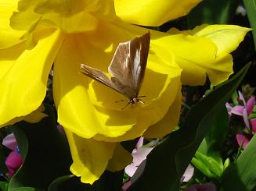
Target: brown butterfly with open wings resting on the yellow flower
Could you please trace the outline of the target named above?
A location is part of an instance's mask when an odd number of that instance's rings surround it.
[[[128,97],[128,104],[143,103],[138,95],[146,70],[149,49],[150,31],[131,41],[118,44],[108,67],[111,78],[99,69],[84,64],[81,64],[81,72]]]

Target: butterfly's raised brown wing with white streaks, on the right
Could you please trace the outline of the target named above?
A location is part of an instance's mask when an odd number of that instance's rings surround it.
[[[120,43],[109,66],[111,81],[130,100],[137,97],[144,77],[150,48],[150,32]]]

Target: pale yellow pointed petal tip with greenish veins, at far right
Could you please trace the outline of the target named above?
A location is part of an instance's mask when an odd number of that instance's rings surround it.
[[[207,37],[218,48],[217,57],[236,50],[243,37],[251,29],[237,25],[201,25],[189,30],[190,35]]]

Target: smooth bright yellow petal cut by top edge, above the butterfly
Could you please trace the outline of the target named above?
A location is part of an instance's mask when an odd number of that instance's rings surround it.
[[[143,26],[160,26],[185,16],[201,0],[114,0],[117,16],[124,22]]]

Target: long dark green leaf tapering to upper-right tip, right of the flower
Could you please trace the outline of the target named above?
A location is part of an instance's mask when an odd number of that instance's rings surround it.
[[[218,111],[239,86],[249,66],[246,65],[189,111],[181,128],[149,154],[145,171],[130,190],[178,190],[182,174],[215,122]]]

